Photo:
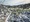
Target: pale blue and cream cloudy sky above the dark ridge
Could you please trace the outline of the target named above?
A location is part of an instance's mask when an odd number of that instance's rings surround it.
[[[0,3],[3,5],[21,5],[21,4],[27,4],[30,3],[30,0],[0,0]]]

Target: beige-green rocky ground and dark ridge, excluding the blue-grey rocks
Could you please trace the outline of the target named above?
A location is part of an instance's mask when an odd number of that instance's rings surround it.
[[[0,22],[5,22],[7,16],[12,12],[19,15],[22,12],[30,12],[30,4],[28,6],[25,5],[18,5],[18,6],[5,6],[0,5]]]

